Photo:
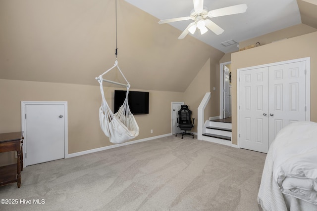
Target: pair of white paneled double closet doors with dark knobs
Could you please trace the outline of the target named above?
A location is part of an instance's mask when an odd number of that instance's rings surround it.
[[[240,147],[267,153],[280,129],[306,120],[306,62],[240,71]]]

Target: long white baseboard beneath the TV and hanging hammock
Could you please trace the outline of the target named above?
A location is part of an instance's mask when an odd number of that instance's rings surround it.
[[[81,152],[75,152],[75,153],[71,153],[68,154],[67,156],[65,156],[65,158],[72,158],[72,157],[77,157],[77,156],[81,156],[81,155],[86,155],[86,154],[90,154],[90,153],[94,153],[94,152],[99,152],[99,151],[104,151],[107,149],[112,149],[112,148],[116,148],[116,147],[121,147],[121,146],[125,146],[125,145],[129,145],[129,144],[135,144],[135,143],[139,143],[139,142],[143,142],[143,141],[149,141],[149,140],[153,140],[153,139],[157,139],[157,138],[162,138],[162,137],[166,137],[172,135],[171,133],[169,134],[164,134],[164,135],[158,135],[158,136],[153,136],[153,137],[149,137],[149,138],[143,138],[143,139],[139,139],[139,140],[135,140],[135,141],[128,141],[122,144],[113,144],[110,146],[106,146],[106,147],[100,147],[100,148],[96,148],[96,149],[91,149],[91,150],[86,150],[86,151],[81,151]]]

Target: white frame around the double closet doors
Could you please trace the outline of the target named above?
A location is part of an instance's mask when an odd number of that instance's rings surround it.
[[[293,62],[300,62],[305,61],[306,62],[306,121],[311,121],[311,57],[305,57],[300,59],[292,59],[287,61],[281,61],[281,62],[275,62],[275,63],[269,63],[264,65],[257,65],[252,67],[246,67],[246,68],[239,68],[237,69],[237,146],[240,148],[240,112],[239,112],[239,105],[240,105],[240,71],[249,70],[249,69],[256,69],[256,68],[263,68],[263,67],[269,67],[269,66],[275,66],[275,65],[282,65],[282,64],[288,64]],[[220,74],[221,75],[221,74]]]

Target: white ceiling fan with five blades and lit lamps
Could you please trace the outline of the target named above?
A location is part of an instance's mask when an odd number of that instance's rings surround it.
[[[193,0],[193,1],[194,1],[194,9],[192,10],[190,16],[160,20],[159,24],[192,19],[194,22],[190,23],[186,27],[186,29],[178,37],[178,39],[185,38],[189,32],[191,34],[194,34],[197,28],[199,29],[201,35],[205,34],[208,31],[208,29],[210,29],[214,34],[220,35],[224,30],[220,28],[217,24],[212,22],[210,19],[208,19],[207,17],[213,18],[213,17],[225,16],[225,15],[244,13],[248,8],[247,4],[242,3],[242,4],[237,4],[234,6],[228,6],[228,7],[223,7],[220,9],[214,9],[214,10],[208,11],[208,9],[204,7],[204,0]]]

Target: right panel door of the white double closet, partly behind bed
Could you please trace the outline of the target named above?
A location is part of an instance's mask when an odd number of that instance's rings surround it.
[[[306,121],[306,62],[268,67],[269,144],[280,129]]]

